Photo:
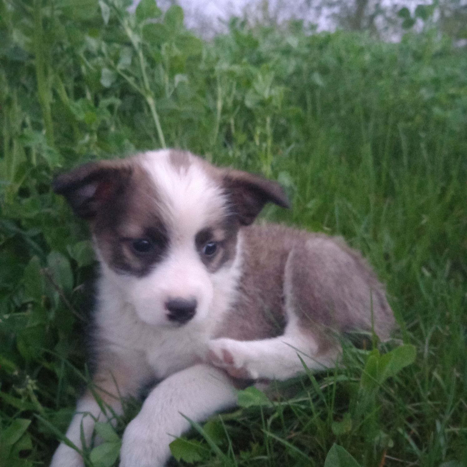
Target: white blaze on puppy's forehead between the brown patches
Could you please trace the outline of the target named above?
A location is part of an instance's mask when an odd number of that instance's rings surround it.
[[[219,221],[226,204],[222,189],[210,178],[194,156],[189,163],[174,165],[170,150],[148,152],[143,167],[152,177],[157,203],[169,235],[186,238]]]

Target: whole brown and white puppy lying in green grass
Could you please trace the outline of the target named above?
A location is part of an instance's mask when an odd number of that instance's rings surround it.
[[[336,336],[386,340],[394,327],[382,284],[345,243],[252,225],[267,203],[289,207],[276,182],[171,149],[86,164],[53,189],[89,222],[100,263],[100,402],[119,414],[122,397],[159,381],[123,434],[121,467],[164,466],[187,418],[235,406],[238,382],[299,375],[298,355],[312,370],[332,367]],[[78,448],[107,419],[93,394],[79,399],[66,432]],[[51,466],[84,461],[62,443]]]

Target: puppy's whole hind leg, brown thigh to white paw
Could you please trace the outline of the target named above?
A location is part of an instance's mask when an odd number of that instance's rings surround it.
[[[389,335],[394,318],[382,284],[360,255],[334,239],[310,236],[293,248],[284,269],[283,336],[266,340],[212,340],[208,358],[237,378],[290,378],[333,366],[340,344],[333,333],[375,330]]]

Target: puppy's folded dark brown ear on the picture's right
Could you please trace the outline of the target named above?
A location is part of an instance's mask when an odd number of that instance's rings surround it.
[[[250,225],[255,220],[266,203],[290,207],[281,185],[267,178],[241,170],[228,170],[224,175],[223,183],[230,196],[233,210],[244,226]]]

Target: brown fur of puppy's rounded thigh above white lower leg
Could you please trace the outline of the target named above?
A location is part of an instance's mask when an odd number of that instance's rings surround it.
[[[353,250],[331,238],[310,237],[288,261],[292,308],[300,325],[317,334],[370,330],[388,337],[394,324],[381,283]]]

